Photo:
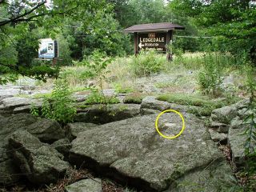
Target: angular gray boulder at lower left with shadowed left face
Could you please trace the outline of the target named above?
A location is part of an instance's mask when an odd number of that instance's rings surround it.
[[[56,182],[70,168],[53,147],[43,144],[26,130],[17,130],[9,138],[14,163],[35,184]]]

